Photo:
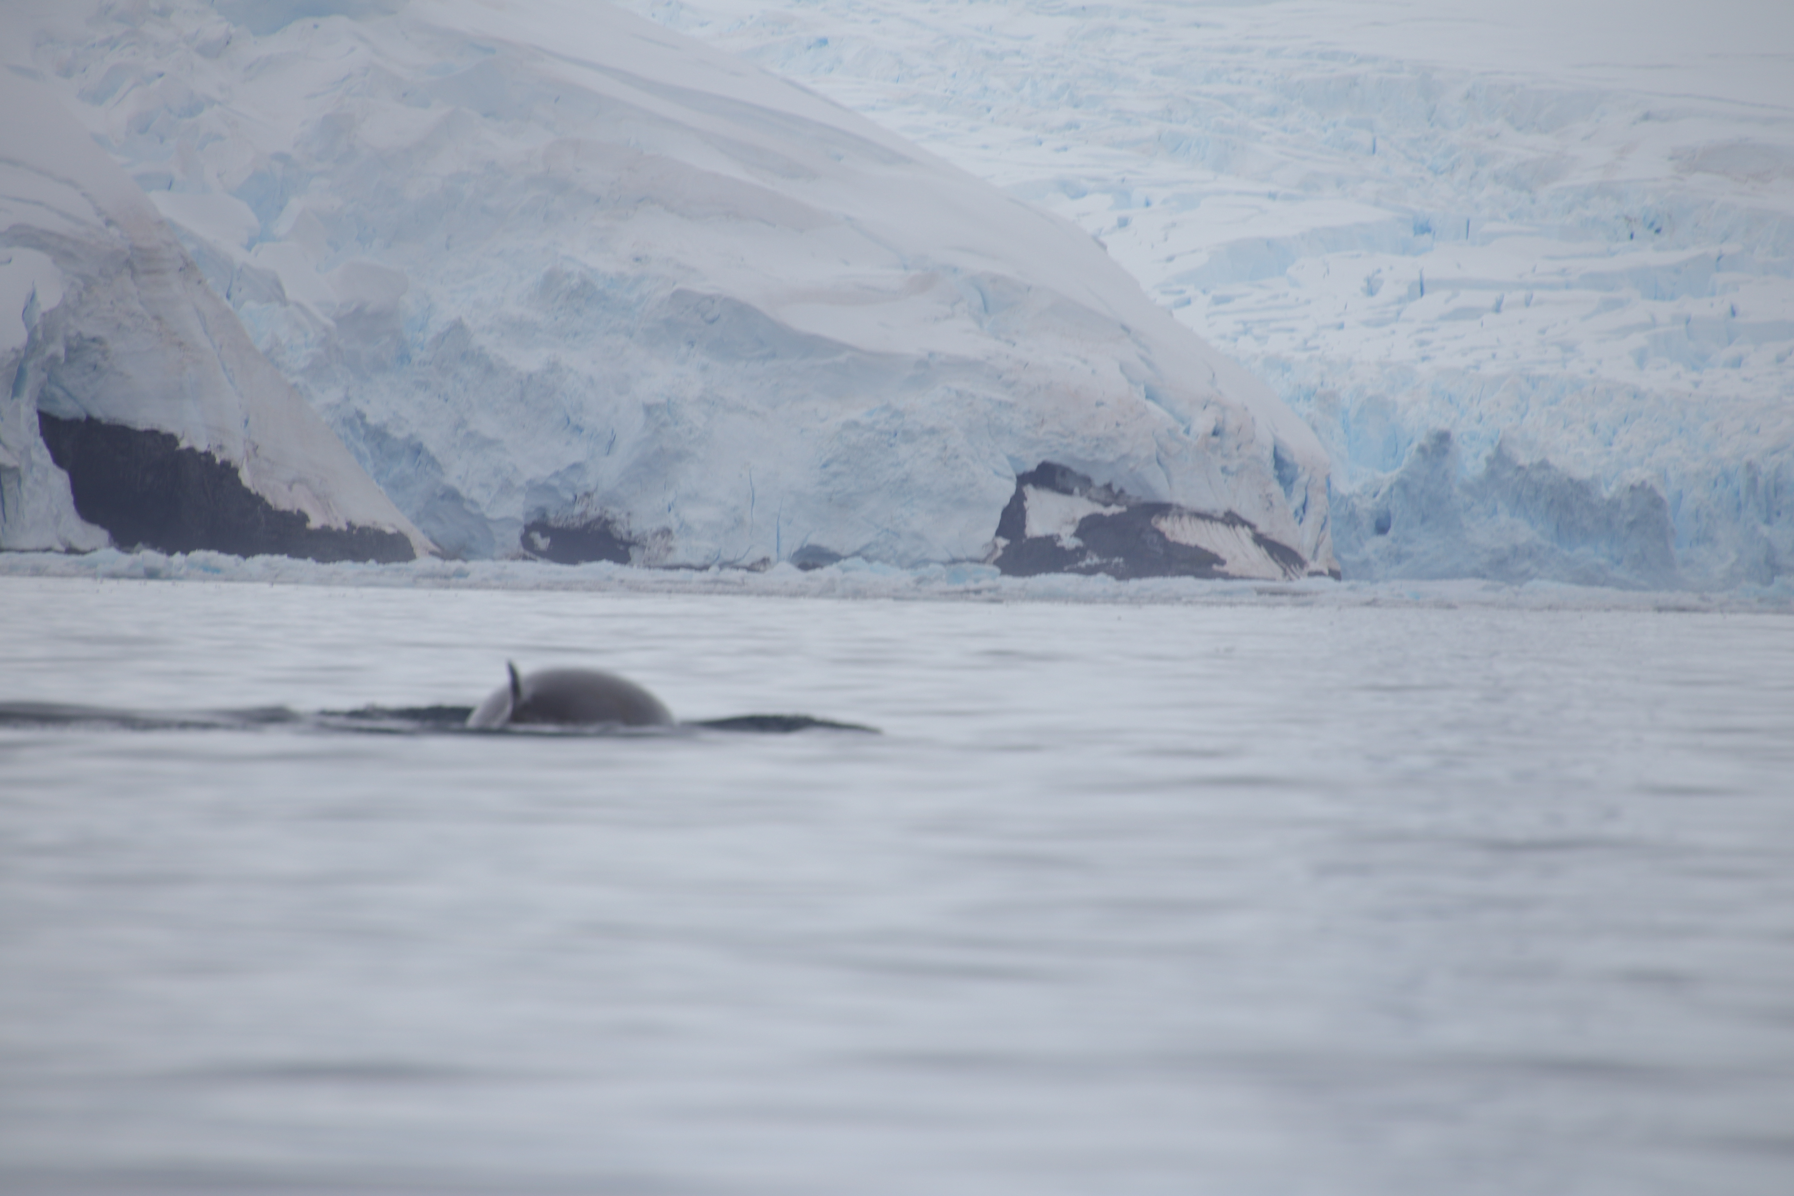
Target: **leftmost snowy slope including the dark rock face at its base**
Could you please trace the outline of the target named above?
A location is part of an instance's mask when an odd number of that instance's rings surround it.
[[[54,95],[0,113],[0,547],[425,550]]]

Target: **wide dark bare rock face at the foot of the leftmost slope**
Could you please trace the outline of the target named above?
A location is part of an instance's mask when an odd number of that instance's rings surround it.
[[[244,486],[228,461],[183,448],[169,432],[38,412],[50,459],[68,475],[75,513],[120,549],[278,554],[314,561],[409,561],[411,542],[379,527],[312,527]]]

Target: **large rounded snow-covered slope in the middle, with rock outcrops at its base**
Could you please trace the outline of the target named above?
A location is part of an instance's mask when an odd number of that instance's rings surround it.
[[[1032,545],[1071,568],[1333,568],[1326,454],[1263,382],[752,65],[572,0],[77,9],[13,54],[445,550],[1021,568],[997,525],[1075,497],[1024,493],[1051,466],[1109,495],[1109,549]]]

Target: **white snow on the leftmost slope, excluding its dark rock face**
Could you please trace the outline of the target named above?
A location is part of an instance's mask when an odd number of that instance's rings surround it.
[[[174,434],[314,527],[429,542],[257,351],[156,210],[41,84],[0,72],[0,547],[106,545],[38,411]]]

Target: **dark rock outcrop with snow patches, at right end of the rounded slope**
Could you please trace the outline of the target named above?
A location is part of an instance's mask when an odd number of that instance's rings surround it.
[[[1071,534],[1030,536],[1030,491],[1082,498],[1098,509],[1084,515]],[[1252,559],[1231,561],[1220,550],[1186,543],[1188,536],[1171,538],[1164,531],[1168,525],[1182,525],[1186,533],[1193,529],[1197,538],[1215,543],[1241,545]],[[1211,515],[1171,502],[1143,502],[1055,461],[1042,461],[1015,479],[1015,493],[997,516],[996,534],[999,549],[992,563],[1014,577],[1301,577],[1308,572],[1301,552],[1270,540],[1234,511]]]

